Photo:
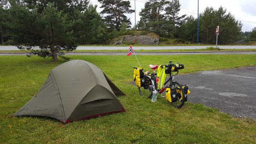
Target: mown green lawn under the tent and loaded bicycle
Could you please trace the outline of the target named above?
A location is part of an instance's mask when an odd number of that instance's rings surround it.
[[[9,116],[41,88],[49,70],[63,63],[33,56],[0,56],[0,143],[256,143],[256,121],[234,118],[202,104],[177,109],[164,98],[142,98],[133,81],[134,55],[69,56],[99,66],[125,96],[126,112],[69,124],[46,117]],[[181,73],[256,65],[256,55],[137,56],[149,64],[183,63]],[[180,82],[182,83],[182,82]],[[190,95],[193,95],[191,92]]]

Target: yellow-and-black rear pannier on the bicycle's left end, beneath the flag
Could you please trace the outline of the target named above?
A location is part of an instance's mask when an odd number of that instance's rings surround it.
[[[136,86],[142,87],[145,85],[145,74],[143,72],[143,69],[140,67],[137,67],[137,69],[134,69],[134,81]]]

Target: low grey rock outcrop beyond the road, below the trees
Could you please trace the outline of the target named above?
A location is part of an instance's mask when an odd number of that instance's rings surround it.
[[[121,38],[113,40],[114,45],[118,44],[142,44],[142,45],[158,45],[159,36],[151,35],[124,35]]]

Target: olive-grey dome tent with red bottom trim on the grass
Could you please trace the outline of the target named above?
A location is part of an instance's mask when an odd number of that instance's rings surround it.
[[[47,116],[68,123],[124,112],[115,94],[125,95],[99,67],[70,60],[52,69],[38,93],[13,116]]]

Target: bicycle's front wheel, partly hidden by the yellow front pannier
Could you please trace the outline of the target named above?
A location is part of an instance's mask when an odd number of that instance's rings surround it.
[[[184,89],[176,81],[172,82],[172,89],[177,90],[177,92],[176,92],[177,101],[173,102],[172,104],[177,108],[181,108],[184,105],[184,102],[185,102]]]

